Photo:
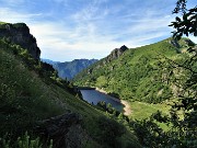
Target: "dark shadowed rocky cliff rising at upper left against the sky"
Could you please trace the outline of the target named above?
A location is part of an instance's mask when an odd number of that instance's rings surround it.
[[[5,38],[11,44],[18,44],[28,50],[34,59],[39,59],[40,49],[37,47],[36,38],[30,33],[25,23],[1,24],[0,37]]]

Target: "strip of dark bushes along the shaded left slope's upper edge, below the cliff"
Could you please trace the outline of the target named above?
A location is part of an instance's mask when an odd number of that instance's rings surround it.
[[[0,41],[0,46],[7,48],[8,52],[13,53],[18,58],[23,60],[23,64],[30,69],[34,70],[46,83],[56,83],[59,87],[69,90],[74,93],[73,86],[63,79],[58,78],[57,71],[51,65],[35,60],[26,49],[23,49],[20,45],[10,44],[7,41]]]

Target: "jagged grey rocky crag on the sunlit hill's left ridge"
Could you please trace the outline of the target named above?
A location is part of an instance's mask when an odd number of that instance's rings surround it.
[[[120,48],[115,48],[107,57],[106,57],[106,61],[109,62],[113,59],[116,59],[118,57],[120,57],[123,55],[124,52],[126,52],[128,49],[127,46],[121,46]]]

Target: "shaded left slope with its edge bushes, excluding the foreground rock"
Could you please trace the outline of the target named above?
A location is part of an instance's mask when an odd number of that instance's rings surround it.
[[[127,144],[123,141],[126,140],[134,147],[140,146],[130,132],[120,132],[124,128],[115,121],[107,118],[101,122],[99,117],[104,117],[105,114],[82,101],[80,94],[73,92],[73,84],[58,78],[50,65],[35,60],[28,50],[9,42],[7,37],[0,39],[0,147],[2,143],[7,147],[18,147],[23,141],[24,145],[21,146],[25,148],[28,145],[34,147],[34,144],[35,147],[40,147],[45,141],[38,143],[38,138],[30,138],[28,135],[18,137],[26,130],[34,135],[37,122],[68,111],[82,116],[83,124],[79,126],[84,128],[82,136],[89,139],[85,141],[84,138],[82,145],[114,147],[117,144],[125,147]],[[105,125],[106,128],[103,128]],[[9,137],[4,137],[7,133]],[[112,141],[116,141],[105,144],[104,133],[109,134]],[[119,139],[119,136],[124,137]],[[73,140],[74,137],[70,138]],[[135,143],[128,141],[130,139]]]

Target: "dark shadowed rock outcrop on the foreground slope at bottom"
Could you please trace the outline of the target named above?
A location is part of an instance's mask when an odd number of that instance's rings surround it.
[[[89,139],[81,122],[80,115],[68,113],[39,122],[36,130],[53,139],[55,148],[81,148]]]

